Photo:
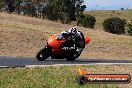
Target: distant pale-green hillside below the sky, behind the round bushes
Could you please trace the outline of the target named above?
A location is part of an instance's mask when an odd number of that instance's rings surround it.
[[[128,22],[132,19],[132,9],[128,10],[93,10],[85,11],[84,13],[90,14],[96,17],[96,29],[102,29],[102,23],[105,19],[111,17],[119,17],[121,19],[126,19]]]

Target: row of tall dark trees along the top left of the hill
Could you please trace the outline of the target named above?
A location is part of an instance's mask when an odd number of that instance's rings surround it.
[[[76,21],[80,12],[86,8],[83,0],[1,0],[4,2],[5,11],[9,13],[60,20],[62,23]]]

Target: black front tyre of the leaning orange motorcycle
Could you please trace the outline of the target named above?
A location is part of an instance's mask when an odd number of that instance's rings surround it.
[[[50,56],[49,49],[48,49],[48,47],[45,47],[45,48],[41,49],[41,50],[37,53],[36,58],[37,58],[37,60],[39,60],[39,61],[44,61],[44,60],[47,59],[49,56]]]

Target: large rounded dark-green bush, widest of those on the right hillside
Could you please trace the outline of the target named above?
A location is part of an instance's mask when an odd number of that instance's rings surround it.
[[[113,34],[125,34],[126,20],[118,17],[105,19],[104,30]]]

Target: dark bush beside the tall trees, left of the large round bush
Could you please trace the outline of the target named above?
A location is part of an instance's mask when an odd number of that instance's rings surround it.
[[[81,20],[81,25],[86,27],[86,28],[94,28],[96,22],[96,18],[94,16],[91,15],[84,15],[83,19]]]

